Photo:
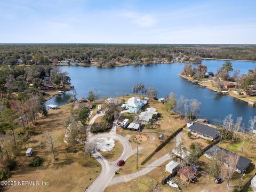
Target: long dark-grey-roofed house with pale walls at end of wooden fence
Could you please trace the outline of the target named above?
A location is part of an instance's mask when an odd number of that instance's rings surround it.
[[[192,122],[191,124],[192,125],[188,127],[188,131],[195,136],[201,137],[206,140],[214,140],[219,137],[219,133],[214,127],[196,122]]]

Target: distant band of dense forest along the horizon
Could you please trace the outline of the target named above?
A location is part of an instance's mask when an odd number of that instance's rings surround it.
[[[0,44],[0,64],[48,64],[76,59],[81,62],[157,61],[174,57],[256,60],[256,45],[192,44]]]

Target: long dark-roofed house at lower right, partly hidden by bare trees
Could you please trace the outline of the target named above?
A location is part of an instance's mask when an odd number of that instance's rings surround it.
[[[237,155],[232,151],[229,151],[227,149],[223,149],[217,145],[214,145],[212,148],[208,149],[205,151],[204,156],[207,158],[212,158],[213,153],[215,151],[223,151],[226,155]],[[238,163],[236,165],[236,172],[237,173],[243,173],[247,167],[249,167],[250,163],[252,162],[250,159],[247,159],[243,156],[237,155],[238,156]],[[229,166],[228,164],[226,164],[226,166]]]

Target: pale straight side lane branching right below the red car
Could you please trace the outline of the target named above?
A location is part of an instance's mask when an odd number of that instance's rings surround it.
[[[170,154],[166,154],[163,157],[157,159],[156,161],[150,163],[147,167],[143,168],[141,171],[113,178],[109,182],[108,186],[114,185],[116,183],[127,182],[132,179],[138,178],[142,175],[148,174],[150,171],[154,170],[157,166],[163,164],[165,161],[167,161],[169,159],[171,159]]]

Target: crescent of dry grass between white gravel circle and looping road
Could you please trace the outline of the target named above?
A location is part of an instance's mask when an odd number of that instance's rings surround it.
[[[111,151],[99,151],[100,154],[108,161],[116,161],[123,153],[123,145],[120,141],[115,140],[115,146]]]

